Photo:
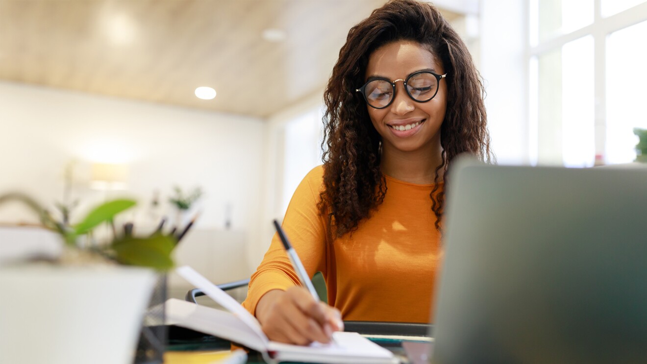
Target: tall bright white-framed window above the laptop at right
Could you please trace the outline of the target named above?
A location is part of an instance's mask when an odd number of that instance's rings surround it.
[[[647,128],[647,0],[529,0],[529,10],[531,162],[633,161],[632,129]]]

